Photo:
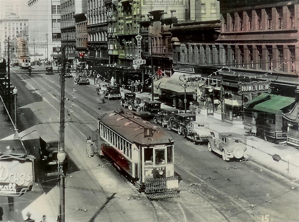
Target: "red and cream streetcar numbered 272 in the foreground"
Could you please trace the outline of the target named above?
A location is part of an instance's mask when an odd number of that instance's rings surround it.
[[[98,151],[149,199],[178,197],[174,140],[170,133],[130,112],[98,117]]]

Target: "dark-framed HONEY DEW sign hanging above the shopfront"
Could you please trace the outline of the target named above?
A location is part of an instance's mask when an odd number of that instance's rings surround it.
[[[245,95],[245,94],[258,94],[262,92],[271,92],[270,88],[271,81],[253,81],[251,83],[238,83],[238,94]]]

